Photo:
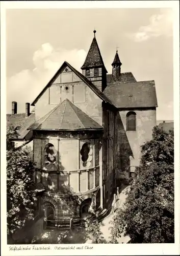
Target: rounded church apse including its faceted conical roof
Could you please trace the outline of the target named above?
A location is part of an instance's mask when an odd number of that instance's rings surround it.
[[[66,225],[70,218],[78,225],[103,206],[102,126],[66,99],[29,129],[47,226]]]

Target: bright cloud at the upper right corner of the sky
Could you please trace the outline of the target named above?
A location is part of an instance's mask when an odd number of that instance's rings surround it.
[[[147,26],[141,26],[136,33],[128,34],[134,41],[146,41],[151,37],[161,35],[172,36],[173,12],[171,9],[161,9],[160,14],[152,15]]]

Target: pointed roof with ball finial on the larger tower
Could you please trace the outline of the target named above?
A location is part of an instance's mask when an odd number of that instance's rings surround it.
[[[105,67],[104,62],[102,60],[102,56],[100,54],[98,44],[97,44],[97,40],[95,37],[96,31],[94,30],[93,32],[94,32],[94,38],[92,40],[91,46],[89,48],[89,52],[86,56],[85,62],[81,67],[81,69],[100,67],[100,66]]]

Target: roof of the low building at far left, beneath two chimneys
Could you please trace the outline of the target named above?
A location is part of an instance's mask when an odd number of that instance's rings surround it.
[[[25,113],[21,114],[7,114],[6,115],[7,126],[12,124],[17,128],[19,136],[18,139],[24,139],[24,137],[30,132],[28,127],[34,123],[35,113],[31,113],[29,117],[25,117]]]

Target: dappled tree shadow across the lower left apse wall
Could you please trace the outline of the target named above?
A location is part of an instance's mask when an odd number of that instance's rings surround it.
[[[48,154],[55,155],[53,148],[54,145],[50,143],[48,144],[50,145],[50,153]],[[100,150],[100,147],[98,150]],[[57,152],[57,155],[59,158],[59,167],[61,169],[61,172],[57,173],[58,161],[55,162],[55,158],[49,156],[49,159],[52,159],[54,161],[54,167],[51,167],[52,173],[42,173],[42,184],[44,185],[45,193],[47,194],[42,196],[41,211],[45,209],[45,211],[47,212],[47,209],[49,210],[49,208],[52,208],[52,214],[50,214],[51,219],[52,216],[54,216],[54,219],[61,217],[79,218],[83,217],[84,215],[95,214],[95,210],[99,205],[100,194],[97,193],[97,195],[94,195],[93,193],[87,192],[87,194],[84,194],[83,196],[76,195],[76,192],[69,183],[69,173],[62,173],[64,167],[62,166],[62,163],[60,161],[61,156],[59,152]],[[45,155],[45,160],[46,159],[47,156]],[[76,178],[78,178],[78,174]],[[86,183],[86,180],[84,182]],[[96,206],[95,202],[97,202]]]

